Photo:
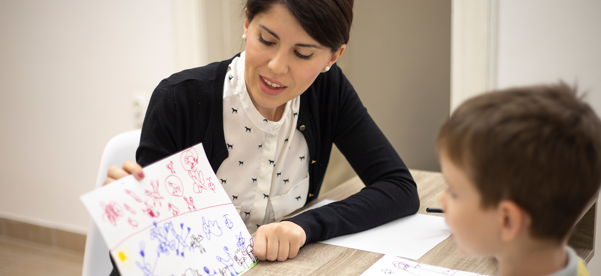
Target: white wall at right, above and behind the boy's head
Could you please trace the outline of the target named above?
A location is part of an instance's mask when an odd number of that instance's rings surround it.
[[[588,102],[601,114],[599,14],[598,0],[499,0],[498,87],[563,79],[588,91]],[[588,264],[591,275],[601,275],[600,237],[597,224],[597,254]]]

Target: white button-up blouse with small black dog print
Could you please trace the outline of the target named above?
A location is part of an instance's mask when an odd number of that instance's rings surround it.
[[[268,121],[246,91],[245,52],[224,81],[224,135],[229,156],[216,175],[254,233],[304,206],[309,191],[309,149],[296,129],[301,96],[286,103],[281,120]]]

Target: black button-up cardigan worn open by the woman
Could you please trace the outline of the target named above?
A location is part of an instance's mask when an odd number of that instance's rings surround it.
[[[228,157],[223,129],[223,85],[230,60],[184,70],[163,79],[144,118],[136,160],[142,165],[203,142],[213,171]],[[332,143],[367,185],[360,192],[292,221],[306,244],[360,232],[419,208],[413,178],[359,96],[335,64],[301,94],[297,129],[309,148],[309,194],[314,200],[328,167]]]

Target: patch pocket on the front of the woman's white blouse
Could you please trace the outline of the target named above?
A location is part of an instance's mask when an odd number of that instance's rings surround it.
[[[309,176],[305,177],[299,183],[290,188],[287,194],[276,195],[271,198],[273,216],[275,220],[281,219],[294,212],[296,209],[305,206],[307,194],[309,192]]]

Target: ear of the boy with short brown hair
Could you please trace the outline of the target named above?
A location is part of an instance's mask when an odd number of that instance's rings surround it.
[[[511,200],[501,200],[497,206],[501,241],[514,241],[531,224],[530,216]]]

